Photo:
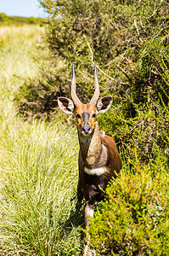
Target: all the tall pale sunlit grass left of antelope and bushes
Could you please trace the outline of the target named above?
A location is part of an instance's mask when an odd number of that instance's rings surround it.
[[[0,254],[79,255],[76,130],[16,116],[14,91],[38,75],[39,26],[0,27]]]

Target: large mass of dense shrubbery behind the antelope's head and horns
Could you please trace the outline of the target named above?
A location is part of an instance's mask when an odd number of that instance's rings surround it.
[[[49,14],[48,53],[43,45],[42,79],[26,82],[15,98],[19,112],[39,117],[55,111],[57,96],[69,96],[71,62],[79,96],[87,102],[96,61],[101,94],[111,94],[115,107],[99,117],[104,131],[121,145],[139,140],[143,160],[156,157],[154,143],[167,152],[160,131],[168,129],[168,2],[41,3]]]

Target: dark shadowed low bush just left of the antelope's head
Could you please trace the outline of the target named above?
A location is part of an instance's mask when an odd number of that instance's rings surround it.
[[[63,86],[64,75],[62,77],[59,75],[61,70],[64,71],[65,66],[60,65],[59,62],[54,66],[44,65],[38,78],[26,79],[20,90],[15,92],[14,102],[23,118],[50,119],[52,113],[56,113],[58,96],[68,94],[67,87]],[[54,83],[57,82],[59,87],[54,88]]]

